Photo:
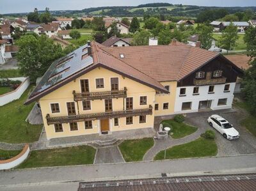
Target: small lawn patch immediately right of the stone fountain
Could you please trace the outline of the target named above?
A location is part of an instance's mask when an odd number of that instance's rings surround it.
[[[173,134],[171,135],[173,139],[180,139],[182,137],[186,137],[187,135],[193,134],[196,132],[197,127],[187,125],[186,123],[178,123],[173,119],[168,119],[162,121],[163,127],[171,127]]]

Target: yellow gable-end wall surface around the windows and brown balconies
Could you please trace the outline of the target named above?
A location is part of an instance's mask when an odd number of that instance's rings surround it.
[[[147,109],[149,105],[154,108],[154,102],[156,97],[156,90],[140,84],[134,80],[128,79],[127,77],[122,77],[115,72],[111,72],[104,68],[96,68],[83,76],[61,86],[48,95],[40,98],[40,107],[42,110],[42,116],[44,119],[45,132],[47,139],[52,139],[56,137],[68,137],[75,135],[86,135],[86,134],[100,134],[100,120],[92,121],[92,129],[85,129],[84,122],[77,122],[78,130],[70,131],[70,126],[68,123],[63,123],[63,132],[55,132],[54,125],[47,125],[47,120],[45,116],[49,114],[51,117],[57,116],[68,116],[67,102],[74,102],[73,91],[76,93],[81,93],[80,80],[88,79],[90,92],[97,91],[110,91],[111,90],[111,77],[118,77],[119,89],[122,90],[124,87],[127,88],[127,97],[133,98],[133,109]],[[97,89],[95,79],[104,78],[104,88]],[[147,105],[140,105],[140,96],[147,96]],[[75,102],[76,114],[90,114],[97,112],[105,112],[104,100],[93,100],[91,102],[91,110],[83,111],[82,101]],[[51,103],[59,103],[60,112],[51,112]],[[125,98],[113,98],[113,111],[123,111],[125,110]],[[119,130],[131,130],[135,128],[153,128],[154,126],[154,109],[152,115],[146,116],[146,123],[139,123],[139,116],[133,117],[133,123],[131,125],[126,125],[126,118],[119,118],[118,126],[114,125],[114,119],[109,119],[109,132],[119,131]]]

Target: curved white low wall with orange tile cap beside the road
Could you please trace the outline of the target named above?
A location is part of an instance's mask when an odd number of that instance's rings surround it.
[[[29,144],[26,144],[19,155],[7,160],[0,160],[0,170],[12,169],[13,167],[21,164],[26,160],[26,158],[28,158],[29,151]]]

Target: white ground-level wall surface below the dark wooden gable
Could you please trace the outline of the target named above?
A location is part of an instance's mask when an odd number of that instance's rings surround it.
[[[177,114],[186,112],[198,112],[199,102],[205,100],[212,100],[212,110],[229,109],[232,107],[235,86],[236,83],[230,83],[230,91],[224,92],[225,84],[215,85],[214,93],[211,94],[208,93],[209,86],[198,86],[199,95],[193,95],[193,89],[195,86],[179,87],[176,91],[174,112]],[[186,96],[180,96],[180,88],[186,88]],[[222,98],[227,98],[227,105],[218,105],[218,100]],[[191,109],[182,111],[183,102],[192,102]]]

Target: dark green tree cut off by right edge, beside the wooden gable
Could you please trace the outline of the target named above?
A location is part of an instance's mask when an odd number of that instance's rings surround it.
[[[251,57],[251,67],[246,70],[243,78],[243,92],[250,112],[256,116],[256,27],[251,26],[245,31],[244,42],[247,54]]]

